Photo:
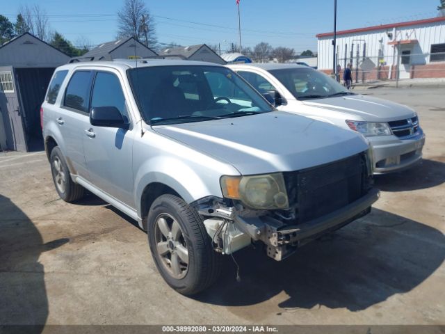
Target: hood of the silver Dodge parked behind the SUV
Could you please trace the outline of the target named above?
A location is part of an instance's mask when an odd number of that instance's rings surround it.
[[[415,112],[402,104],[366,95],[347,95],[325,99],[302,101],[307,106],[316,106],[350,114],[350,120],[390,122],[414,117]]]

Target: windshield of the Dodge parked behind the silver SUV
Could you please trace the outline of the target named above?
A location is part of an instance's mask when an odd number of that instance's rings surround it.
[[[349,90],[322,72],[312,68],[270,70],[297,100],[320,99],[337,95],[352,95]]]

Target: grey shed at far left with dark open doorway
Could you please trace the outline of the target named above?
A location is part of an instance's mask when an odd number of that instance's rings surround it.
[[[0,46],[0,149],[43,149],[40,105],[62,51],[24,33]]]

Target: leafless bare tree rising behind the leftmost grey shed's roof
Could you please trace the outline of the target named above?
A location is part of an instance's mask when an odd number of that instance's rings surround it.
[[[39,5],[19,7],[19,15],[23,17],[27,31],[44,41],[51,38],[47,11]]]

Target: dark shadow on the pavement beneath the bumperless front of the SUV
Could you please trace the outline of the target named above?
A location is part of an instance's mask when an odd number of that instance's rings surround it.
[[[283,309],[324,305],[359,311],[409,292],[445,259],[442,232],[389,212],[373,209],[368,216],[327,234],[282,262],[245,248],[225,264],[218,282],[195,296],[204,303],[254,305],[285,292]],[[262,308],[257,310],[261,317]]]

